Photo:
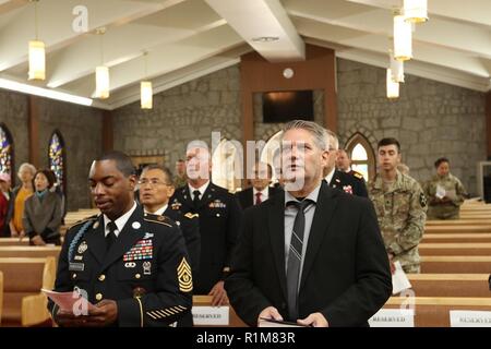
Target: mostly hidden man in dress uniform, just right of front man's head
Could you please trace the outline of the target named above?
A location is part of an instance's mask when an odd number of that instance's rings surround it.
[[[336,169],[336,159],[338,156],[339,141],[337,135],[326,130],[328,137],[328,159],[327,166],[324,168],[324,180],[331,188],[336,188],[348,194],[368,197],[367,186],[364,185],[363,176],[358,173],[357,177]],[[361,177],[361,178],[358,178]]]

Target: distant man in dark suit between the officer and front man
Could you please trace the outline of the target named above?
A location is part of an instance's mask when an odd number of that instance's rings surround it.
[[[270,164],[258,161],[252,167],[252,186],[236,193],[242,209],[259,205],[274,195],[275,189],[270,186],[273,169]]]

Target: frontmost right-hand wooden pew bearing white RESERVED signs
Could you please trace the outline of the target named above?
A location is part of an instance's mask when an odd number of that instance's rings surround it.
[[[398,309],[408,301],[415,304],[416,327],[450,327],[451,310],[491,311],[490,298],[391,297],[384,309]]]

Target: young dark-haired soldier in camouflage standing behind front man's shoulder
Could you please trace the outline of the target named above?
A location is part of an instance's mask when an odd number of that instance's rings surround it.
[[[396,167],[400,146],[395,139],[383,139],[378,146],[380,173],[369,183],[385,249],[406,273],[419,273],[418,244],[424,231],[427,198],[419,183]]]

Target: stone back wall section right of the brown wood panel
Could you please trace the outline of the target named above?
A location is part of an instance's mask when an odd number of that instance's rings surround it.
[[[372,143],[398,139],[403,161],[419,181],[434,173],[441,156],[470,193],[477,163],[486,160],[484,94],[406,74],[400,96],[385,96],[385,70],[337,60],[338,133],[344,144],[360,132]]]

